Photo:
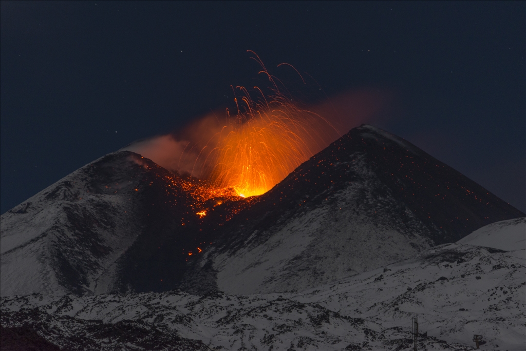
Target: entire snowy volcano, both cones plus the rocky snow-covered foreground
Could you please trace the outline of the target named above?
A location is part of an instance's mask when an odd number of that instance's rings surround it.
[[[524,216],[367,125],[249,198],[110,153],[2,215],[2,348],[522,349]]]

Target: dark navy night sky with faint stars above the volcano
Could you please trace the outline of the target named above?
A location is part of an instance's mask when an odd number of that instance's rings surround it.
[[[2,2],[1,212],[287,62],[526,211],[525,2]],[[228,96],[228,97],[227,97]],[[312,102],[312,101],[307,101]]]

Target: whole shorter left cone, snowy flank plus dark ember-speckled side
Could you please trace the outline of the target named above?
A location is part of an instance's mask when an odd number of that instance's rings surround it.
[[[181,252],[201,239],[182,183],[138,154],[117,152],[4,213],[1,295],[174,288],[186,264]],[[162,271],[159,261],[168,261]]]

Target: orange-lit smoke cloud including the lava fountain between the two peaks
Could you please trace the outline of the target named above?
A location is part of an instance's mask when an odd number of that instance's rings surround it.
[[[270,190],[302,162],[343,132],[378,116],[385,95],[357,91],[308,109],[284,94],[261,63],[269,94],[236,87],[237,112],[223,122],[214,115],[191,122],[174,135],[139,141],[124,150],[140,153],[171,171],[206,179],[249,197]],[[341,130],[342,132],[340,132]],[[200,214],[201,215],[201,214]],[[204,213],[202,214],[204,215]]]

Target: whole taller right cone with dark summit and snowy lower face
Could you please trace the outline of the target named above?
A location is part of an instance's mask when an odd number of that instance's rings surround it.
[[[239,213],[187,286],[215,276],[230,294],[302,291],[522,215],[406,140],[361,126]]]

